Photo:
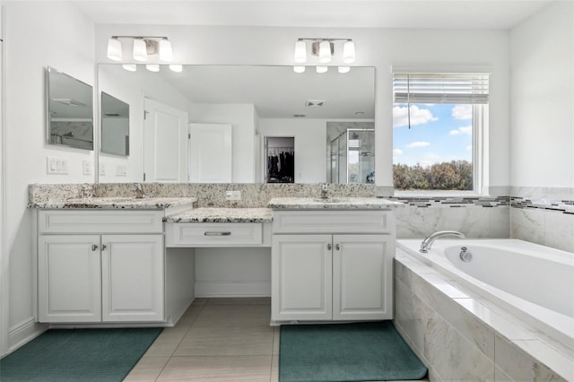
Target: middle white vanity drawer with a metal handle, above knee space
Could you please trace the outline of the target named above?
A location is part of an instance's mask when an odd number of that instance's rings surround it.
[[[166,224],[166,247],[235,247],[263,244],[261,223]]]

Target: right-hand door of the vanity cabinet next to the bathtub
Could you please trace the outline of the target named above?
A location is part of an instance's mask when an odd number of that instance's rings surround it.
[[[333,244],[333,319],[391,319],[392,236],[335,235]]]

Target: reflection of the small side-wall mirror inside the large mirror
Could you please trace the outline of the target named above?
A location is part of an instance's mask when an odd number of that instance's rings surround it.
[[[129,155],[129,104],[101,92],[101,152]]]

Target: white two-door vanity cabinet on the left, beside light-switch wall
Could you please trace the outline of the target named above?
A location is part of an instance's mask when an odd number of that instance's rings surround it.
[[[39,322],[163,321],[162,216],[39,211]]]

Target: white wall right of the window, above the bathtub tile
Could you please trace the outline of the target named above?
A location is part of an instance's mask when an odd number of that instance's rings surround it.
[[[574,187],[574,3],[510,31],[510,185]]]

